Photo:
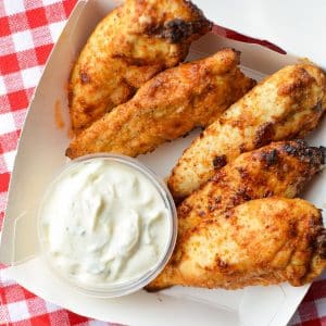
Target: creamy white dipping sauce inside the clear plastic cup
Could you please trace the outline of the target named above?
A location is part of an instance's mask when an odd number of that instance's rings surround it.
[[[79,162],[55,180],[41,211],[52,264],[86,286],[136,279],[164,255],[168,211],[155,186],[118,162]]]

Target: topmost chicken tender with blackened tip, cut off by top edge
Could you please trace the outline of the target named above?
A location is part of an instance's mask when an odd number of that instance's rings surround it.
[[[88,127],[155,74],[184,61],[191,41],[211,25],[186,0],[127,0],[113,10],[89,37],[72,71],[73,130]]]

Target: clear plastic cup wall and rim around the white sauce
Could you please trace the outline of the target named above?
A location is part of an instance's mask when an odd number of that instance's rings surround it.
[[[59,268],[53,264],[50,254],[47,250],[46,241],[43,240],[43,234],[42,234],[42,227],[41,227],[41,221],[42,221],[42,210],[43,204],[46,202],[46,199],[51,193],[51,190],[53,186],[58,183],[60,177],[65,174],[68,170],[73,168],[76,164],[79,164],[80,162],[87,162],[92,160],[108,160],[113,162],[118,162],[121,164],[128,165],[131,168],[136,168],[138,172],[140,172],[148,180],[151,181],[151,184],[155,187],[158,190],[161,199],[163,200],[167,211],[168,211],[168,218],[170,218],[170,234],[164,249],[164,252],[161,254],[160,259],[158,260],[156,264],[153,265],[149,271],[147,271],[143,275],[140,275],[139,277],[131,278],[126,281],[118,281],[118,283],[112,283],[111,285],[108,284],[103,286],[101,285],[99,287],[92,287],[92,286],[86,286],[82,283],[78,283],[77,280],[74,280],[72,277],[68,277],[68,275],[65,275]],[[174,250],[175,243],[176,243],[176,237],[177,237],[177,213],[175,203],[173,200],[173,197],[167,189],[166,185],[162,179],[159,178],[159,176],[150,170],[145,164],[140,163],[139,161],[131,159],[126,155],[122,154],[112,154],[112,153],[97,153],[97,154],[89,154],[84,155],[78,159],[75,159],[71,162],[68,162],[60,172],[57,174],[57,176],[53,178],[53,180],[50,183],[50,185],[47,187],[47,190],[41,199],[41,203],[39,205],[38,210],[38,222],[37,222],[37,234],[38,234],[38,241],[40,244],[40,254],[45,259],[48,267],[51,269],[52,274],[63,280],[66,285],[75,288],[82,293],[89,294],[97,298],[115,298],[115,297],[122,297],[126,294],[130,294],[133,292],[136,292],[140,289],[142,289],[145,286],[147,286],[151,280],[153,280],[160,272],[164,268],[166,263],[168,262],[172,252]]]

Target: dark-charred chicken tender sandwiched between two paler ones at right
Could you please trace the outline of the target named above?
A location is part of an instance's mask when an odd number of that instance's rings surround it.
[[[272,142],[242,153],[177,208],[178,238],[202,220],[252,199],[294,198],[325,163],[325,149],[303,140]]]

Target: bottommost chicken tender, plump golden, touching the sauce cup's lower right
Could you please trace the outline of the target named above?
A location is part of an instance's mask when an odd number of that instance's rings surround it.
[[[147,287],[238,289],[288,281],[302,286],[326,266],[321,211],[302,199],[248,201],[202,221],[178,248],[178,259]]]

